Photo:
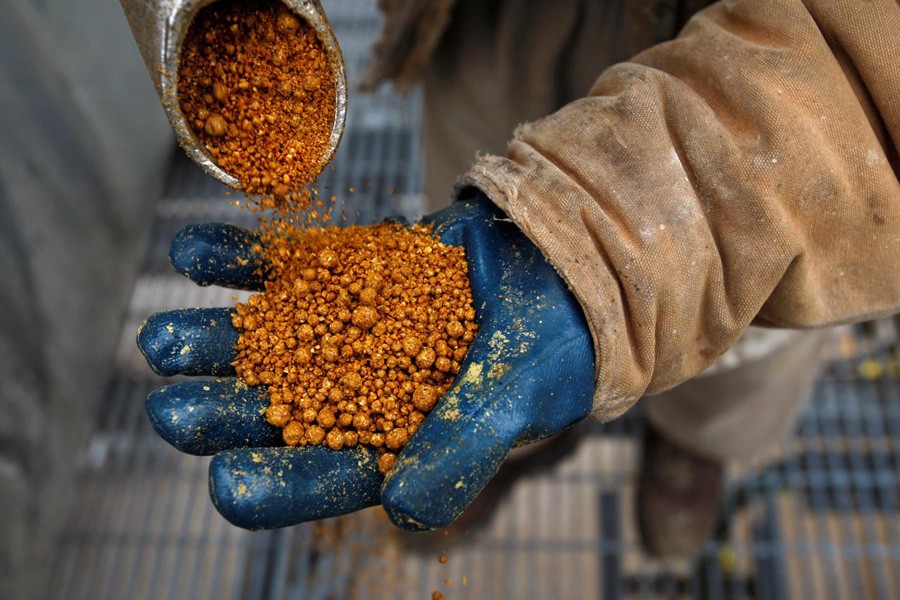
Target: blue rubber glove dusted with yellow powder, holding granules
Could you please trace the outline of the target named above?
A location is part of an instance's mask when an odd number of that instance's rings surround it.
[[[594,353],[566,284],[482,194],[431,215],[435,234],[466,248],[479,332],[453,387],[386,478],[374,451],[283,446],[266,423],[263,387],[236,379],[177,383],[147,398],[156,431],[179,450],[215,454],[210,494],[235,525],[268,529],[381,503],[410,530],[449,525],[515,445],[550,436],[591,410]],[[261,287],[252,233],[188,226],[172,263],[200,285]],[[242,258],[246,260],[236,260]],[[160,375],[232,376],[231,309],[153,315],[138,344]]]

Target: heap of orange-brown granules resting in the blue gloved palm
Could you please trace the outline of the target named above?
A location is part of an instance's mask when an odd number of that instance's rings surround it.
[[[477,332],[465,250],[397,223],[275,221],[265,240],[265,291],[232,315],[238,376],[267,386],[286,444],[370,446],[386,473]]]

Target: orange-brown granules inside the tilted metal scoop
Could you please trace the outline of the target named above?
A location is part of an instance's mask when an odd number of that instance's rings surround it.
[[[242,191],[269,202],[298,192],[324,166],[335,85],[315,31],[275,0],[203,8],[181,50],[178,99],[187,122]]]

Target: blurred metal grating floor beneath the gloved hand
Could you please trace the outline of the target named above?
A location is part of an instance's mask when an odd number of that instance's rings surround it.
[[[328,5],[351,82],[378,27],[370,4]],[[419,97],[381,90],[351,102],[322,193],[361,222],[420,212]],[[279,531],[232,527],[209,502],[208,459],[182,455],[152,431],[143,399],[166,382],[134,344],[152,312],[233,303],[229,290],[175,275],[166,255],[187,223],[252,225],[231,202],[176,157],[97,430],[78,456],[45,598],[900,598],[900,350],[891,320],[837,332],[796,436],[774,460],[734,474],[718,539],[692,569],[652,561],[638,546],[639,410],[586,422],[527,469],[504,471],[502,492],[480,503],[482,519],[466,515],[448,531],[406,534],[378,508]]]

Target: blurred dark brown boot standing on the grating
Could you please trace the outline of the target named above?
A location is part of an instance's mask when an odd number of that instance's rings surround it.
[[[644,549],[658,558],[696,558],[718,520],[724,479],[722,465],[670,442],[648,423],[637,488]]]

